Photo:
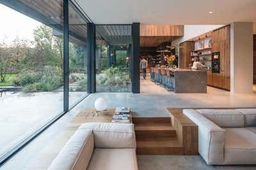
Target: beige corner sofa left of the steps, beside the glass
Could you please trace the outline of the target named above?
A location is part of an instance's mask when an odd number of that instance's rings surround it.
[[[133,124],[81,125],[49,167],[49,170],[69,169],[138,169]]]

